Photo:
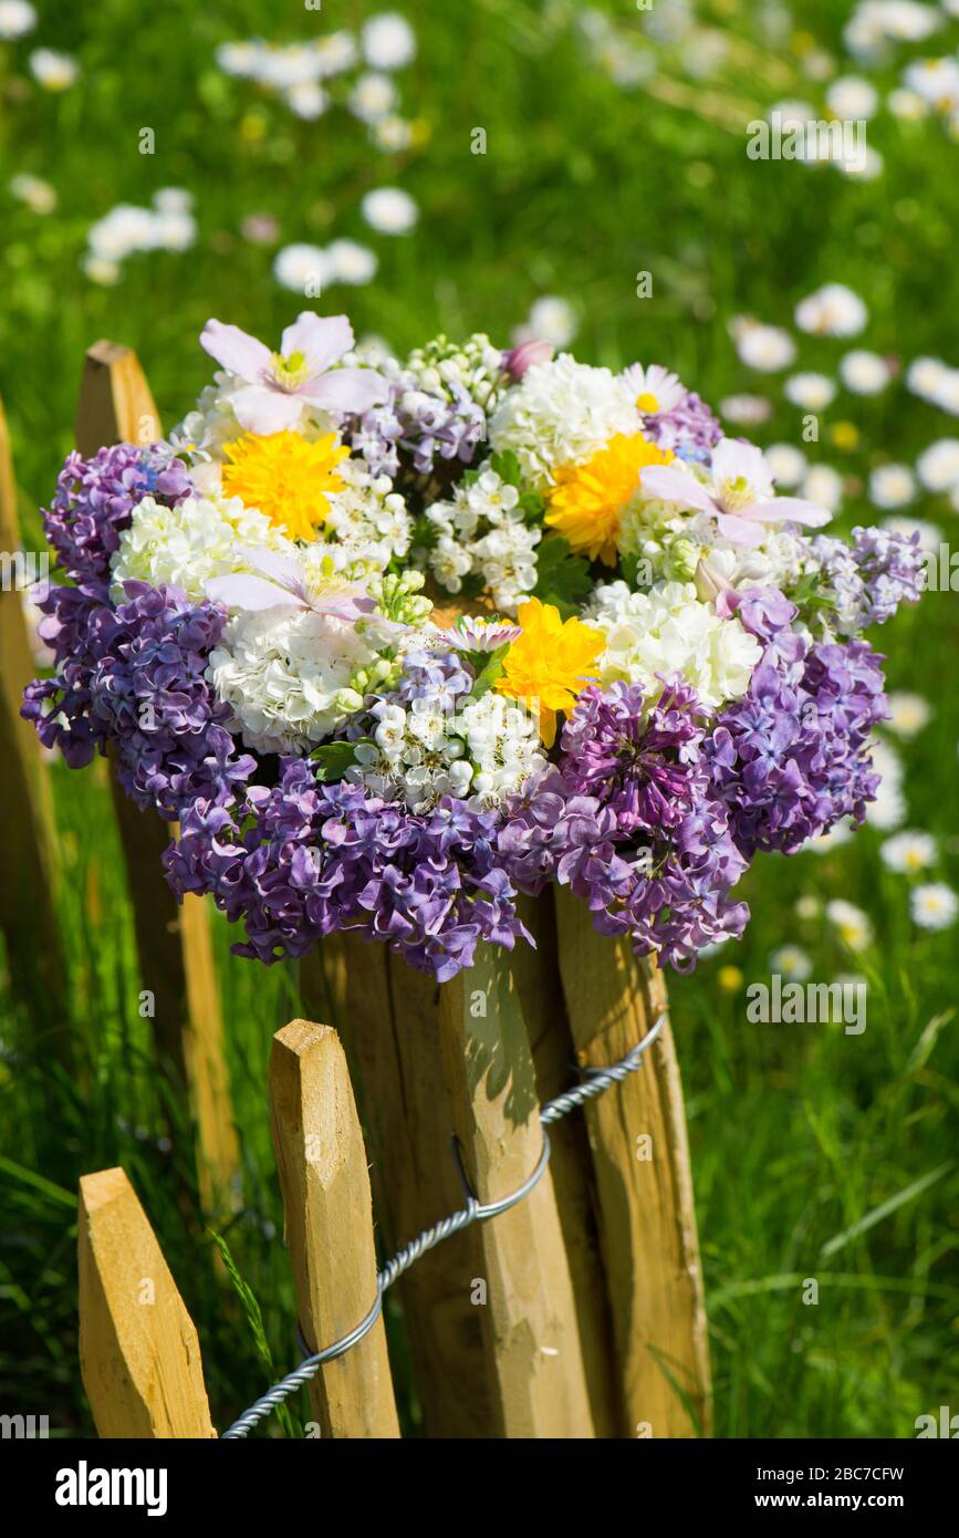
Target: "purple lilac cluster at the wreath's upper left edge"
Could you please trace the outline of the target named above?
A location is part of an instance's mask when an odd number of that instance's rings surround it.
[[[117,443],[89,460],[68,454],[52,506],[43,514],[46,537],[72,581],[106,583],[131,509],[143,497],[174,506],[191,489],[189,471],[169,444]]]

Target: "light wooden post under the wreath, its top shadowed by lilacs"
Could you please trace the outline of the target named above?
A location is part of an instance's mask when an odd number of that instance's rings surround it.
[[[443,1050],[466,1177],[480,1203],[516,1190],[543,1152],[533,1060],[509,957],[492,946],[440,990]],[[592,1438],[569,1261],[549,1167],[515,1207],[483,1223],[480,1303],[498,1432]]]

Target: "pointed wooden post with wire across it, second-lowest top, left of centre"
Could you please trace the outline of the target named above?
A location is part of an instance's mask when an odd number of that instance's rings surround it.
[[[274,1037],[270,1117],[300,1324],[332,1346],[377,1300],[366,1147],[346,1055],[332,1026],[292,1020]],[[400,1435],[386,1330],[378,1318],[310,1381],[323,1436]]]

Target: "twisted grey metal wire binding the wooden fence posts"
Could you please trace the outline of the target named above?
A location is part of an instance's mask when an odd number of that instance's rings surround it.
[[[240,1441],[241,1438],[249,1436],[260,1421],[264,1421],[266,1416],[277,1409],[277,1406],[283,1404],[284,1400],[289,1400],[290,1393],[295,1393],[297,1389],[303,1389],[320,1370],[320,1367],[326,1366],[327,1361],[335,1361],[338,1357],[346,1355],[346,1352],[357,1346],[364,1335],[369,1335],[373,1324],[383,1313],[383,1293],[387,1287],[392,1287],[393,1283],[406,1270],[409,1270],[409,1267],[413,1266],[421,1255],[435,1249],[436,1244],[441,1244],[443,1240],[449,1238],[452,1233],[458,1233],[472,1223],[487,1223],[490,1218],[496,1218],[499,1213],[509,1212],[509,1209],[515,1207],[524,1197],[529,1197],[533,1186],[536,1186],[546,1173],[550,1158],[550,1141],[546,1127],[559,1121],[561,1117],[569,1115],[570,1110],[576,1110],[579,1106],[584,1106],[589,1100],[595,1100],[596,1095],[606,1094],[606,1090],[612,1089],[613,1084],[621,1084],[624,1078],[629,1078],[629,1075],[635,1074],[638,1067],[642,1067],[644,1054],[649,1047],[652,1047],[653,1041],[665,1026],[665,1021],[667,1015],[664,1012],[624,1058],[618,1063],[612,1063],[609,1067],[586,1069],[584,1072],[587,1077],[581,1084],[564,1090],[562,1095],[556,1095],[555,1100],[550,1100],[546,1106],[543,1106],[539,1112],[539,1121],[543,1124],[543,1150],[539,1154],[539,1160],[532,1175],[527,1175],[523,1184],[518,1186],[516,1190],[512,1190],[507,1197],[499,1197],[496,1201],[489,1203],[476,1200],[470,1190],[466,1169],[463,1166],[460,1144],[456,1138],[453,1138],[453,1157],[460,1169],[460,1178],[463,1180],[463,1186],[466,1189],[466,1206],[458,1212],[452,1212],[447,1218],[440,1218],[438,1223],[433,1223],[432,1227],[424,1229],[415,1240],[410,1240],[409,1244],[404,1244],[403,1249],[397,1250],[397,1253],[387,1260],[383,1270],[377,1273],[377,1297],[366,1318],[360,1320],[360,1324],[355,1324],[347,1335],[341,1335],[332,1346],[324,1346],[323,1350],[314,1352],[310,1357],[304,1357],[298,1367],[287,1372],[284,1378],[280,1378],[280,1381],[272,1386],[272,1389],[261,1393],[260,1398],[243,1412],[243,1415],[238,1415],[234,1424],[223,1432],[220,1440]],[[303,1341],[303,1332],[300,1332],[300,1340]]]

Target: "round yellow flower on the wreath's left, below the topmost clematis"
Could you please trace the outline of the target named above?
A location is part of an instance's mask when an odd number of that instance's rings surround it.
[[[335,432],[309,443],[298,432],[254,432],[224,443],[223,491],[258,508],[290,540],[312,540],[329,512],[327,494],[343,491],[337,464],[349,458]]]

